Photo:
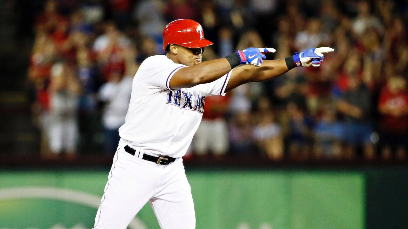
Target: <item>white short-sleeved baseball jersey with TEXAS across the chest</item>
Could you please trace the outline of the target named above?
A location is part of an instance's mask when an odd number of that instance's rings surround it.
[[[119,129],[129,146],[154,156],[184,156],[200,125],[206,96],[224,96],[232,72],[208,84],[171,90],[171,77],[184,67],[166,55],[142,62],[133,78],[125,123]]]

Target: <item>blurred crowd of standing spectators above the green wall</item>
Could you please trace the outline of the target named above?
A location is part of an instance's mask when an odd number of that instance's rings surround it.
[[[113,155],[133,76],[164,54],[163,28],[180,18],[214,42],[204,61],[247,47],[276,48],[271,59],[335,49],[319,68],[208,97],[188,156],[406,160],[408,2],[391,0],[49,0],[28,70],[42,156],[89,144]]]

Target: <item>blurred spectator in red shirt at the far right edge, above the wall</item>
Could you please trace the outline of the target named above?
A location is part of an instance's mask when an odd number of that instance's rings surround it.
[[[408,91],[401,76],[390,77],[382,88],[378,110],[380,118],[380,143],[384,159],[395,152],[397,159],[404,159],[408,144]]]

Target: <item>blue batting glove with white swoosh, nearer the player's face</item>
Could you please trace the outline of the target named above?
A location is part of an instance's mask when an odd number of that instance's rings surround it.
[[[246,48],[243,51],[238,50],[239,64],[259,67],[264,62],[264,59],[266,59],[264,53],[275,53],[275,51],[275,48]]]

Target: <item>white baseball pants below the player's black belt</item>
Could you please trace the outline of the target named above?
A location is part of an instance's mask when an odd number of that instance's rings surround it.
[[[191,187],[182,159],[157,165],[124,151],[120,141],[94,229],[126,229],[149,201],[162,229],[194,229],[195,213]]]

